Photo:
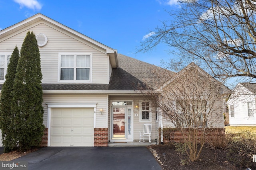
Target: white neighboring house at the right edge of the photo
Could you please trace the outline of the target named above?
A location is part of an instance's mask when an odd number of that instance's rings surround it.
[[[238,83],[227,101],[231,126],[256,126],[256,84]]]

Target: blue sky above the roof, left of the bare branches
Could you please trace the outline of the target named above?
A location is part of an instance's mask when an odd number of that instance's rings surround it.
[[[170,20],[165,10],[175,8],[177,0],[0,0],[0,29],[41,13],[120,54],[160,65],[172,58],[169,47],[161,44],[147,53],[136,53],[136,47]]]

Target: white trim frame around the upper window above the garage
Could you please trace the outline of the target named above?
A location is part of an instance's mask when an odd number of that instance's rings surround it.
[[[90,55],[90,77],[89,80],[60,80],[61,55]],[[74,61],[76,62],[76,61]],[[92,83],[92,53],[59,53],[58,61],[58,82],[59,83]]]

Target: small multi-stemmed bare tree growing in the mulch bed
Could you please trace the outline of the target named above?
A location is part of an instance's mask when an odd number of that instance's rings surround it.
[[[157,96],[160,114],[182,134],[190,160],[197,160],[209,128],[223,127],[222,101],[228,89],[194,63],[175,74],[166,70],[165,75],[170,80],[161,88],[142,94],[153,99]]]

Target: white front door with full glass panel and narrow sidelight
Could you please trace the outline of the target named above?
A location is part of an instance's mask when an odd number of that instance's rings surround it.
[[[132,106],[112,106],[111,141],[129,142],[132,136]]]

